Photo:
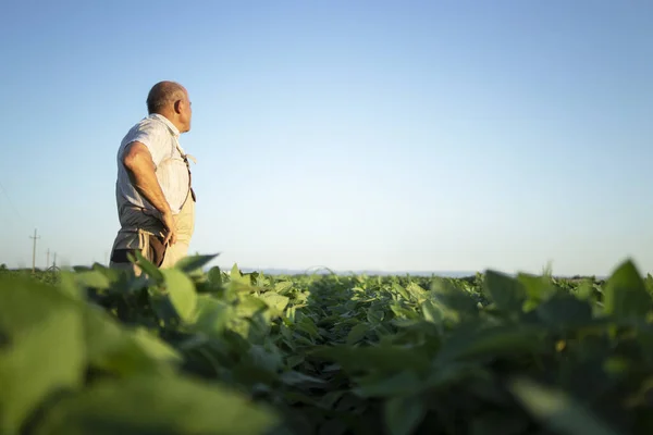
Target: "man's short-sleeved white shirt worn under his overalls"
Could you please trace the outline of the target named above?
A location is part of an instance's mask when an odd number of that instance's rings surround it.
[[[184,162],[184,149],[178,142],[180,130],[165,116],[152,113],[134,125],[125,135],[118,150],[118,181],[115,195],[130,203],[148,209],[159,215],[157,209],[132,185],[127,170],[123,165],[123,153],[133,141],[144,144],[152,154],[156,175],[173,214],[177,214],[189,192],[188,167]]]

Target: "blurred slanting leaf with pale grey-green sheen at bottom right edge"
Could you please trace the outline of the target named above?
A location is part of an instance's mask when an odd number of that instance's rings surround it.
[[[533,381],[519,378],[509,389],[541,423],[565,435],[617,435],[596,415],[560,390],[544,387]]]

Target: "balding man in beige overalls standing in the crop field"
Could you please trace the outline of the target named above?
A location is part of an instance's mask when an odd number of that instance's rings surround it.
[[[147,110],[148,116],[130,129],[118,151],[121,228],[111,250],[112,268],[132,268],[127,253],[135,250],[169,268],[187,256],[195,229],[190,156],[178,142],[190,130],[188,92],[177,83],[160,82],[149,91]]]

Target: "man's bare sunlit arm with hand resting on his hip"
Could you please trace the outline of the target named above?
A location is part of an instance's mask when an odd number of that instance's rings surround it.
[[[144,144],[134,141],[127,145],[122,162],[136,190],[161,213],[163,225],[168,229],[163,245],[168,241],[170,241],[170,245],[174,245],[176,241],[176,227],[172,217],[172,210],[155,174],[156,166],[149,150]]]

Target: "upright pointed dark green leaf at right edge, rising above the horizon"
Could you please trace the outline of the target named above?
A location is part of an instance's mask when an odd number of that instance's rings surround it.
[[[603,306],[616,319],[644,319],[651,310],[651,295],[632,261],[624,262],[605,283]]]

